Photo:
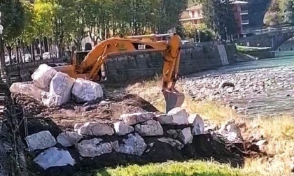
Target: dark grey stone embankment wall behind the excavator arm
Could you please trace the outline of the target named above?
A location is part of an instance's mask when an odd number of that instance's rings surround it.
[[[235,49],[234,49],[235,48]],[[230,63],[236,61],[235,45],[225,46]],[[106,61],[107,82],[125,83],[154,78],[162,74],[162,54],[146,52],[145,54],[113,55]],[[218,48],[211,45],[187,45],[181,52],[179,74],[197,73],[223,66]]]

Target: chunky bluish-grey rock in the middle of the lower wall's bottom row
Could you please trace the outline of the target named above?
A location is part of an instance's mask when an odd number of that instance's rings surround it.
[[[138,156],[141,156],[147,145],[143,138],[138,133],[135,134],[128,134],[127,138],[123,139],[123,143],[121,144],[118,142],[118,140],[111,142],[111,145],[116,152],[122,153],[122,154],[135,154]]]

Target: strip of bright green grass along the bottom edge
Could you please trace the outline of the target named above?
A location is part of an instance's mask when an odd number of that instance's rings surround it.
[[[105,168],[103,170],[92,170],[92,176],[251,176],[244,170],[231,168],[228,165],[216,164],[214,162],[186,161],[148,164],[146,166],[131,165],[115,169]]]

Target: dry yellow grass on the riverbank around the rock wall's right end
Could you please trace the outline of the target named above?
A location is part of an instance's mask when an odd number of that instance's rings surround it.
[[[127,91],[137,93],[141,97],[150,101],[156,108],[164,110],[163,98],[158,96],[160,94],[159,81],[144,82],[142,84],[132,85],[128,87]],[[179,90],[183,90],[183,85],[178,86]],[[294,120],[293,117],[287,115],[276,115],[271,118],[258,117],[255,119],[245,119],[243,116],[237,113],[237,110],[231,108],[228,105],[223,105],[219,101],[193,101],[191,96],[186,95],[186,101],[183,105],[184,108],[190,113],[198,113],[204,119],[204,121],[214,122],[214,124],[223,124],[228,119],[234,118],[236,121],[245,122],[247,135],[254,134],[255,138],[264,137],[266,145],[262,145],[262,149],[267,153],[267,156],[248,158],[244,165],[244,168],[233,169],[230,166],[223,169],[223,164],[214,163],[209,165],[210,162],[197,161],[197,165],[203,166],[207,163],[209,166],[203,168],[203,170],[221,170],[221,175],[290,175],[291,167],[293,167],[293,147],[294,139],[291,137],[294,133]],[[190,98],[189,98],[190,97]],[[246,134],[243,133],[244,138]],[[182,163],[179,163],[179,170],[183,169]],[[129,168],[119,168],[118,170],[130,170]],[[146,166],[147,168],[150,166]],[[160,166],[153,166],[153,169]],[[209,167],[213,167],[209,169]],[[144,168],[144,167],[143,167]],[[151,170],[153,170],[151,169]],[[193,168],[190,168],[193,170]],[[138,168],[139,173],[141,168]],[[113,171],[114,172],[114,171]],[[149,171],[151,172],[151,171]],[[194,171],[195,172],[195,171]],[[136,170],[133,171],[136,173]],[[147,172],[148,173],[148,172]],[[151,172],[152,173],[152,172]],[[199,173],[202,173],[200,170]],[[205,173],[203,171],[203,173]],[[116,175],[116,174],[113,174]],[[136,175],[136,174],[134,174]],[[163,173],[162,175],[165,175]],[[189,174],[187,174],[189,175]]]

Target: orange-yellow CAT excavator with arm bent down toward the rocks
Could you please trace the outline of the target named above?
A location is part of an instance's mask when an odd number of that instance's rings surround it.
[[[169,36],[168,41],[158,38]],[[181,55],[181,37],[177,34],[151,34],[144,36],[123,36],[118,34],[95,45],[87,52],[83,61],[78,63],[73,54],[71,65],[55,66],[56,71],[68,74],[71,78],[84,78],[97,82],[101,80],[101,70],[109,54],[134,52],[162,52],[162,94],[165,97],[166,112],[183,104],[185,96],[175,89],[178,80]],[[99,74],[100,73],[100,74]]]

